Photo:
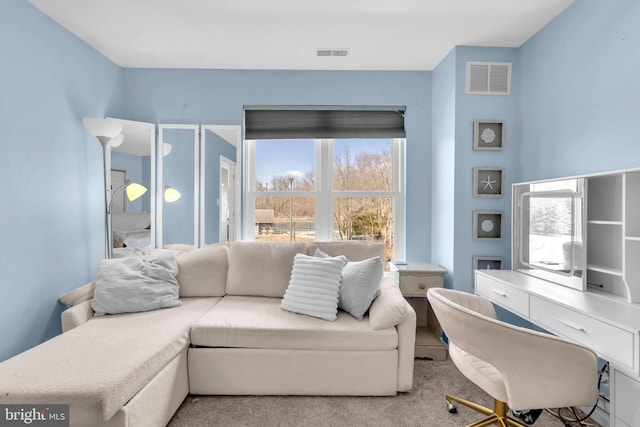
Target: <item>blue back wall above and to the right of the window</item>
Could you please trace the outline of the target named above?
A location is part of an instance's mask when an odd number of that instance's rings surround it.
[[[405,105],[406,254],[431,256],[431,72],[124,70],[131,120],[239,125],[244,105]]]

